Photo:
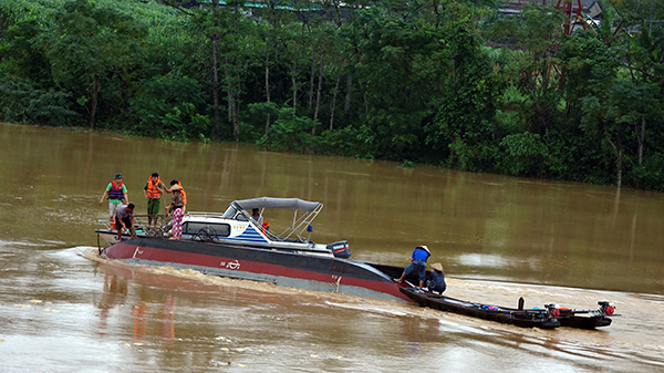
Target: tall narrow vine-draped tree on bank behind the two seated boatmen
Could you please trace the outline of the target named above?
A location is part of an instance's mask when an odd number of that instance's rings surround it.
[[[474,24],[474,12],[449,7],[456,17],[440,25],[440,75],[445,76],[434,120],[426,126],[426,142],[448,156],[448,165],[487,170],[494,164],[499,141],[494,127],[499,85],[487,51]]]

